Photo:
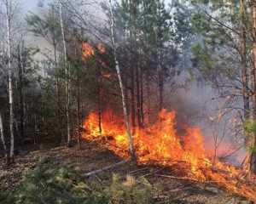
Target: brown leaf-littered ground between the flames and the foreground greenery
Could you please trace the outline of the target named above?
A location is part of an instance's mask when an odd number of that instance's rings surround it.
[[[15,164],[6,167],[3,156],[0,158],[0,190],[12,192],[15,184],[20,180],[22,172],[26,168],[34,168],[40,158],[44,158],[49,168],[58,167],[63,163],[73,165],[80,173],[88,173],[102,167],[113,165],[122,159],[112,151],[100,146],[95,142],[83,141],[82,148],[77,146],[47,147],[41,146],[38,150],[20,150],[20,155],[15,157]],[[140,171],[137,171],[140,169]],[[136,170],[136,171],[135,171]],[[212,184],[202,184],[191,180],[175,178],[160,178],[154,172],[171,175],[172,171],[161,167],[134,167],[131,163],[125,163],[119,167],[96,174],[90,179],[99,182],[111,180],[113,173],[121,176],[126,174],[138,178],[148,175],[146,178],[154,189],[155,203],[216,203],[235,204],[252,203],[236,195],[231,195],[223,189]]]

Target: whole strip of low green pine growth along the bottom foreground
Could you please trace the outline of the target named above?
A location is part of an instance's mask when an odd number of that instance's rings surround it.
[[[114,174],[112,184],[87,182],[67,165],[47,171],[44,161],[23,173],[14,196],[0,194],[0,200],[7,204],[147,204],[153,201],[151,185],[145,178],[127,176],[123,181]]]

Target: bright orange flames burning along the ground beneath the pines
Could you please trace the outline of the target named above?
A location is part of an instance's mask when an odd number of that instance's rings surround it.
[[[237,169],[228,163],[212,161],[204,149],[200,128],[177,126],[176,113],[163,110],[154,124],[133,130],[133,142],[137,162],[140,165],[177,167],[183,178],[199,182],[216,183],[237,195],[256,201],[256,179],[246,169]],[[84,122],[85,139],[101,140],[102,144],[115,154],[129,158],[129,142],[125,122],[113,111],[102,113],[102,133],[98,115],[90,112]]]

